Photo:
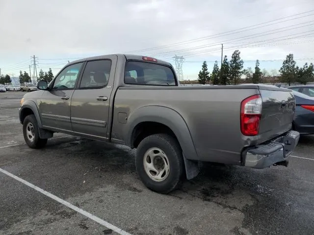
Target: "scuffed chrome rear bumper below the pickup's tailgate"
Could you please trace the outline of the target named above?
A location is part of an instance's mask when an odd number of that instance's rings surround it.
[[[300,138],[296,131],[288,131],[266,143],[259,144],[255,148],[246,149],[243,152],[244,165],[251,168],[266,168],[273,164],[288,165],[289,155],[294,150]]]

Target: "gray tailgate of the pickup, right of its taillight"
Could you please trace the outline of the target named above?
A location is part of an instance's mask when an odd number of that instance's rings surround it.
[[[289,89],[260,88],[262,96],[262,117],[260,135],[268,138],[283,134],[291,128],[295,110],[295,98]]]

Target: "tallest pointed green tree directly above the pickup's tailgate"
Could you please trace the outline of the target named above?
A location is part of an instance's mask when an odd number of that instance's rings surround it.
[[[283,66],[280,68],[280,78],[284,83],[288,83],[290,86],[291,82],[296,80],[298,68],[296,62],[293,59],[293,54],[288,54],[286,60],[283,62]]]

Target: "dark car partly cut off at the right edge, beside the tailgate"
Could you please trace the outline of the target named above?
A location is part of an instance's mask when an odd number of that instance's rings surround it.
[[[291,88],[290,88],[291,89]],[[293,130],[300,135],[314,134],[314,97],[292,90],[295,97]]]

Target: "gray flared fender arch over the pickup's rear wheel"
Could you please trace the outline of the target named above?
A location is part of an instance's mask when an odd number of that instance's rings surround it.
[[[183,155],[186,159],[198,160],[194,142],[183,117],[175,110],[163,106],[144,106],[134,110],[124,129],[125,140],[128,146],[131,146],[132,133],[137,124],[141,122],[152,121],[169,127],[176,135]]]

